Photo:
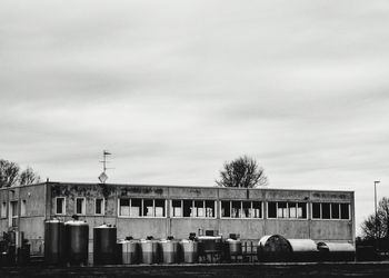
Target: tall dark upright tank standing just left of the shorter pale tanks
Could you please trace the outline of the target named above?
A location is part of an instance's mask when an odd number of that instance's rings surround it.
[[[114,265],[117,228],[101,225],[93,228],[93,265]]]

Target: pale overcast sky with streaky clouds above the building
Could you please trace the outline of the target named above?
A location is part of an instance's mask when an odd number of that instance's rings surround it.
[[[389,197],[388,1],[0,0],[0,158],[43,180]]]

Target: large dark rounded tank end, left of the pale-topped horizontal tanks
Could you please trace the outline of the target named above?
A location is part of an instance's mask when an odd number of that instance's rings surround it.
[[[258,242],[259,261],[288,261],[292,249],[288,240],[280,235],[268,235]]]

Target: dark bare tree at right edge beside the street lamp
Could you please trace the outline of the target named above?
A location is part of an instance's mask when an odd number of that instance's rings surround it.
[[[376,214],[370,215],[361,225],[365,239],[389,238],[389,198],[383,197]]]

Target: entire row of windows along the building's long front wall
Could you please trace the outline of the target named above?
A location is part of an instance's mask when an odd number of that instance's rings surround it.
[[[171,200],[170,217],[216,218],[215,200]],[[167,217],[164,199],[120,199],[120,217]],[[76,198],[74,211],[86,215],[86,198]],[[66,198],[56,198],[56,214],[66,214]],[[104,214],[104,199],[94,200],[94,215]],[[262,218],[261,201],[220,201],[221,218]],[[307,219],[307,202],[269,201],[269,219]],[[350,219],[349,203],[312,202],[312,219]]]

